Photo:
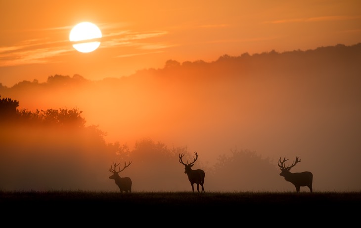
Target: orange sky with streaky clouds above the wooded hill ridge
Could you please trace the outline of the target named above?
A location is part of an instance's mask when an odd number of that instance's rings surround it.
[[[360,9],[360,0],[2,0],[0,83],[45,82],[55,74],[99,80],[162,68],[169,59],[354,45]],[[90,53],[68,40],[82,21],[103,34]]]

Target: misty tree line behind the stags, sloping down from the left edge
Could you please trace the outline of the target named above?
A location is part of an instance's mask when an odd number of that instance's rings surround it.
[[[118,191],[109,180],[113,162],[132,162],[122,175],[133,181],[134,191],[189,191],[184,167],[193,152],[151,138],[140,138],[133,148],[107,142],[98,126],[86,125],[79,109],[18,109],[19,101],[0,97],[0,189]],[[269,158],[233,148],[218,162],[204,162],[197,151],[197,168],[205,171],[209,191],[275,191],[292,189],[279,177]],[[124,173],[124,174],[123,174]]]

